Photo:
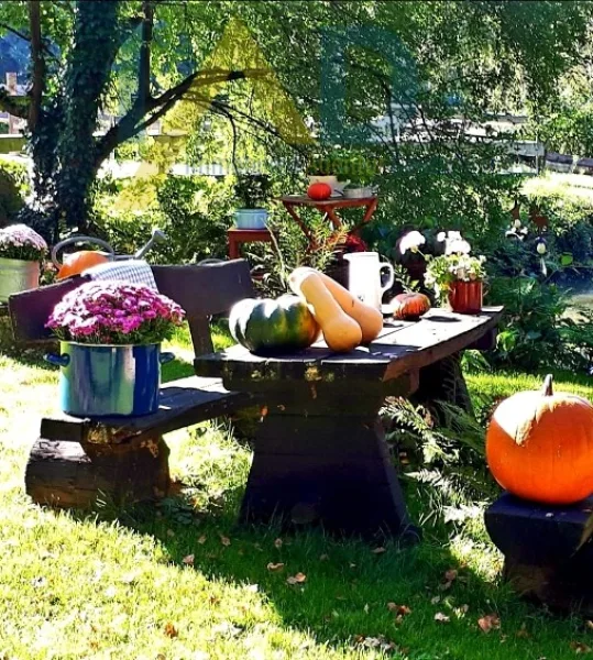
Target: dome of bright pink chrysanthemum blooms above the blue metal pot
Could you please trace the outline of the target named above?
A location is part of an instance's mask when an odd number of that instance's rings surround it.
[[[146,286],[89,282],[64,296],[46,327],[64,341],[151,344],[167,339],[184,317],[177,302]]]

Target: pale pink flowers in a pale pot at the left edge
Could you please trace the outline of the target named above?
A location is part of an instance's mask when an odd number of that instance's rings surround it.
[[[11,294],[35,288],[47,243],[26,224],[0,229],[0,302]]]

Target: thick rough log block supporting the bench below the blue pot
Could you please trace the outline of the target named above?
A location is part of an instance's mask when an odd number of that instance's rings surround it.
[[[36,504],[79,509],[156,499],[168,492],[168,454],[161,436],[119,444],[40,438],[25,470],[26,493]]]

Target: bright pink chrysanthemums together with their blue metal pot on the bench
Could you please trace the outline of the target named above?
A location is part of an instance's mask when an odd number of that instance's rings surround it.
[[[46,327],[61,340],[59,396],[76,417],[135,417],[158,409],[161,364],[173,360],[161,342],[184,310],[143,285],[88,282],[66,294]]]

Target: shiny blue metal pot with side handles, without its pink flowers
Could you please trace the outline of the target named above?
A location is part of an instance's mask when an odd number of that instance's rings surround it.
[[[158,409],[161,364],[173,353],[160,344],[97,345],[63,341],[59,355],[45,360],[61,366],[62,409],[75,417],[136,417]]]

